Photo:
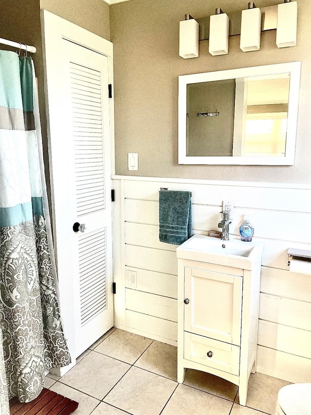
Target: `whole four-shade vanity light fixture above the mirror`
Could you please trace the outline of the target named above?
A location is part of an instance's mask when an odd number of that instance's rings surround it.
[[[188,59],[199,56],[199,41],[208,40],[208,52],[215,55],[228,53],[228,36],[241,34],[243,52],[260,49],[262,31],[276,29],[276,45],[285,48],[296,45],[297,1],[284,1],[267,7],[248,3],[248,9],[226,15],[220,8],[215,15],[194,19],[189,14],[179,23],[179,56]],[[229,24],[230,22],[230,24]]]

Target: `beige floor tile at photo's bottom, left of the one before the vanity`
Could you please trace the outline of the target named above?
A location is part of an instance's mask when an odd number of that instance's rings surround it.
[[[158,415],[177,383],[133,366],[104,401],[134,415]]]

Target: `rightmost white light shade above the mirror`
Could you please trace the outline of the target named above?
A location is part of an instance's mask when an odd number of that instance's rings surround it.
[[[296,46],[297,1],[277,5],[276,46]]]

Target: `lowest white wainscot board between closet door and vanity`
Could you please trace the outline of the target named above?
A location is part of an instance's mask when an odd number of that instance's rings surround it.
[[[144,336],[167,339],[170,344],[177,341],[177,323],[148,316],[147,314],[137,313],[136,311],[126,310],[126,326],[144,333]],[[169,342],[169,340],[171,342]]]

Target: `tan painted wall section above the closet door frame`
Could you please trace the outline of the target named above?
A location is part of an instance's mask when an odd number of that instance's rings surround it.
[[[109,5],[103,0],[40,0],[40,8],[109,40]]]

